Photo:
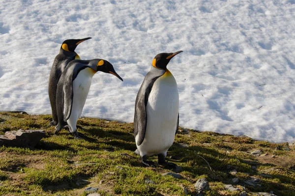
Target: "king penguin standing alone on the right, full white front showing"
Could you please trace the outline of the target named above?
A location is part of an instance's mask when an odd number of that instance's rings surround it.
[[[152,166],[147,156],[158,155],[160,165],[176,167],[165,160],[173,145],[179,122],[177,83],[167,69],[169,61],[178,53],[159,53],[151,64],[135,101],[134,136],[136,153],[146,166]]]

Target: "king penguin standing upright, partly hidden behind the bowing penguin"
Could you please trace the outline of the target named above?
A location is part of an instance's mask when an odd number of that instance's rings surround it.
[[[52,111],[53,121],[49,123],[49,126],[55,126],[58,124],[57,106],[56,106],[56,92],[59,82],[60,74],[63,72],[67,64],[74,60],[80,59],[79,55],[75,52],[76,47],[91,37],[84,39],[70,39],[65,40],[59,49],[59,54],[55,57],[53,65],[51,67],[49,75],[48,95]]]

